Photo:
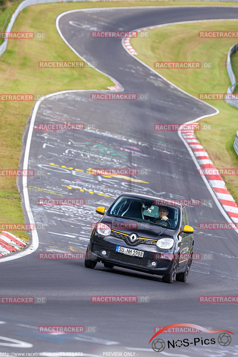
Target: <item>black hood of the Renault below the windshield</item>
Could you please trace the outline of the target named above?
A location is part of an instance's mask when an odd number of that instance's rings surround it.
[[[139,237],[145,238],[170,238],[176,233],[176,231],[169,230],[168,228],[155,226],[150,223],[137,222],[123,217],[105,216],[100,222],[105,223],[117,232],[126,234],[137,233]]]

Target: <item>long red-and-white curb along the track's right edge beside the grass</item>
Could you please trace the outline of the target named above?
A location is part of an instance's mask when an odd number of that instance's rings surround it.
[[[198,123],[193,123],[198,124]],[[196,160],[201,167],[201,169],[215,169],[212,160],[210,159],[207,151],[197,140],[194,131],[182,130],[182,137],[186,140],[189,147],[192,149]],[[231,193],[226,188],[225,181],[222,179],[221,175],[204,175],[206,176],[209,185],[212,187],[215,195],[217,196],[219,202],[221,203],[224,210],[227,212],[229,217],[234,223],[238,222],[238,206],[236,201],[232,197]]]

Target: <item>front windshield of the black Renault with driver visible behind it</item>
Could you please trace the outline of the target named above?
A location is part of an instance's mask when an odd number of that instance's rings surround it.
[[[121,196],[109,208],[108,214],[175,230],[179,223],[179,209],[157,205],[156,200]]]

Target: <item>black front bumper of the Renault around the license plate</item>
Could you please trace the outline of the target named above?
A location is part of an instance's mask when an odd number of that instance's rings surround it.
[[[118,253],[116,252],[116,246],[143,251],[143,258]],[[174,248],[169,251],[162,251],[155,245],[139,244],[130,246],[120,238],[113,236],[103,237],[96,232],[91,237],[89,247],[90,253],[94,256],[93,260],[156,275],[169,274],[173,265],[171,260],[157,260],[156,254],[162,252],[176,253]],[[106,251],[106,255],[102,255],[103,250]],[[152,262],[156,262],[156,266],[152,266]]]

